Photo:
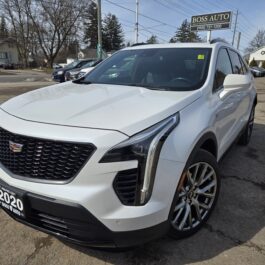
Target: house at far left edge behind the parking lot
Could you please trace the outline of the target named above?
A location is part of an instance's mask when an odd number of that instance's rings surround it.
[[[19,63],[18,50],[13,38],[0,39],[0,67]]]

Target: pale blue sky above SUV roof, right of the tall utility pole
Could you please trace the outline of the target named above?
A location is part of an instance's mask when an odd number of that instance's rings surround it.
[[[125,41],[135,39],[136,0],[101,0],[102,16],[115,14],[122,24]],[[259,29],[265,29],[265,0],[139,0],[139,42],[146,41],[152,34],[160,43],[165,43],[174,36],[184,19],[191,21],[191,16],[232,11],[231,29],[212,31],[212,38],[224,38],[232,42],[236,11],[238,32],[241,32],[239,50],[244,54],[245,48]],[[207,32],[201,31],[205,38]]]

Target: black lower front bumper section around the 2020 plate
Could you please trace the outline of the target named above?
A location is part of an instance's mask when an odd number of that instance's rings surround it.
[[[35,229],[74,244],[93,247],[131,247],[159,238],[169,230],[169,223],[126,232],[113,232],[83,206],[39,196],[0,183],[23,196],[25,217],[4,209],[12,218]]]

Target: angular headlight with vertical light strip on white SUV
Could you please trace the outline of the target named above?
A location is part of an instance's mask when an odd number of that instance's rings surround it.
[[[140,181],[136,205],[143,205],[150,199],[161,148],[178,122],[177,113],[118,144],[100,160],[100,163],[138,161]]]

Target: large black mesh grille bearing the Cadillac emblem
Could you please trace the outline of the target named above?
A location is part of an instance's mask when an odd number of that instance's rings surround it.
[[[95,150],[92,144],[39,139],[0,128],[0,163],[19,177],[67,181],[75,177]]]

